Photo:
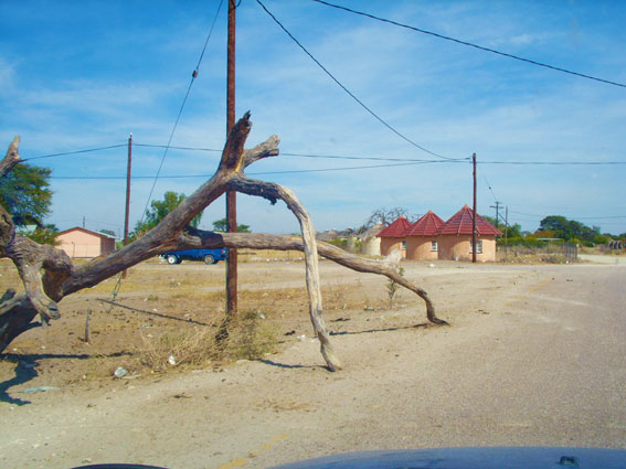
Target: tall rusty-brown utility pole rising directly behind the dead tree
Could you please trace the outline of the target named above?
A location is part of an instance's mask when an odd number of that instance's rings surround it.
[[[235,125],[235,0],[229,0],[229,39],[226,65],[226,137]],[[226,192],[226,231],[237,232],[237,193]],[[229,248],[226,259],[226,318],[237,315],[237,249]]]

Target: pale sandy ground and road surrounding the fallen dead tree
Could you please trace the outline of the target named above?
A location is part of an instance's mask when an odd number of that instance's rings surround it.
[[[322,263],[325,301],[331,305],[327,326],[344,364],[338,373],[323,366],[306,308],[289,299],[291,289],[304,287],[299,263],[242,267],[240,288],[254,294],[255,308],[272,310],[283,342],[277,353],[252,362],[135,380],[116,380],[110,370],[82,379],[84,363],[98,353],[109,355],[108,366],[127,363],[120,352],[149,329],[142,324],[151,310],[169,319],[152,317],[150,328],[193,327],[172,320],[183,319],[185,308],[192,311],[187,320],[206,320],[188,305],[194,297],[172,298],[181,295],[187,276],[209,278],[201,288],[212,295],[223,279],[220,266],[138,267],[131,279],[139,273],[165,276],[166,285],[132,295],[123,290],[119,301],[144,313],[116,309],[116,320],[126,326],[112,330],[106,327],[113,322],[95,316],[100,333],[91,345],[76,340],[81,311],[106,290],[64,301],[71,311],[62,319],[66,323],[30,331],[12,344],[12,361],[0,363],[0,466],[263,468],[367,449],[626,447],[625,267],[406,263],[404,268],[450,327],[429,327],[423,305],[409,291],[390,308],[385,279]],[[283,294],[263,296],[270,290]],[[158,300],[148,300],[150,295]],[[68,329],[75,333],[67,335]],[[20,353],[36,366],[15,364]],[[53,388],[24,393],[35,386]]]

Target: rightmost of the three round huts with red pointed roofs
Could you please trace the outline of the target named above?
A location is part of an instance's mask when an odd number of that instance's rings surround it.
[[[465,205],[438,231],[439,259],[470,260],[474,211]],[[496,236],[502,232],[476,214],[476,260],[496,260]]]

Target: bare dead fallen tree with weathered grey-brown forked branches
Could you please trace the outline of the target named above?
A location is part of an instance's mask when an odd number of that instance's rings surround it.
[[[309,313],[314,330],[320,341],[321,353],[331,371],[340,370],[329,333],[322,318],[317,254],[353,270],[384,275],[414,291],[426,303],[426,316],[433,323],[437,319],[435,308],[426,291],[407,281],[399,273],[397,262],[365,259],[327,243],[317,243],[310,217],[291,191],[272,182],[248,179],[244,170],[263,158],[278,156],[279,139],[269,137],[265,142],[244,150],[252,122],[250,113],[233,127],[215,174],[191,196],[172,210],[152,231],[128,246],[87,264],[75,266],[61,249],[40,245],[20,234],[11,216],[0,206],[0,257],[10,258],[24,285],[24,292],[8,290],[0,299],[0,352],[26,330],[59,318],[57,303],[67,295],[93,287],[100,281],[142,260],[166,251],[198,247],[233,247],[255,249],[297,249],[305,253],[306,284],[309,295]],[[19,137],[10,145],[0,161],[0,178],[22,160],[18,153]],[[273,204],[284,201],[300,224],[301,237],[253,233],[213,233],[189,226],[191,220],[209,206],[226,190],[235,190],[269,200]]]

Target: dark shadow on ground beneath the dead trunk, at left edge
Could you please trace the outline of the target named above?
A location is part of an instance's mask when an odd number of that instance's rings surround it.
[[[123,356],[123,355],[130,355],[129,352],[116,352],[105,356]],[[12,362],[15,364],[14,373],[11,380],[3,381],[0,383],[0,402],[6,402],[8,404],[13,405],[26,405],[31,404],[30,401],[21,399],[18,397],[11,397],[9,395],[9,390],[14,386],[19,386],[22,384],[28,383],[29,381],[33,380],[34,377],[39,376],[38,366],[39,360],[45,359],[77,359],[77,360],[87,360],[94,356],[103,356],[98,355],[88,355],[85,353],[82,354],[65,354],[65,353],[33,353],[33,354],[18,354],[18,353],[6,353],[0,355],[2,360],[8,362]],[[42,388],[41,391],[44,391]],[[24,393],[24,391],[15,391],[15,393]],[[34,391],[33,391],[34,392]]]

